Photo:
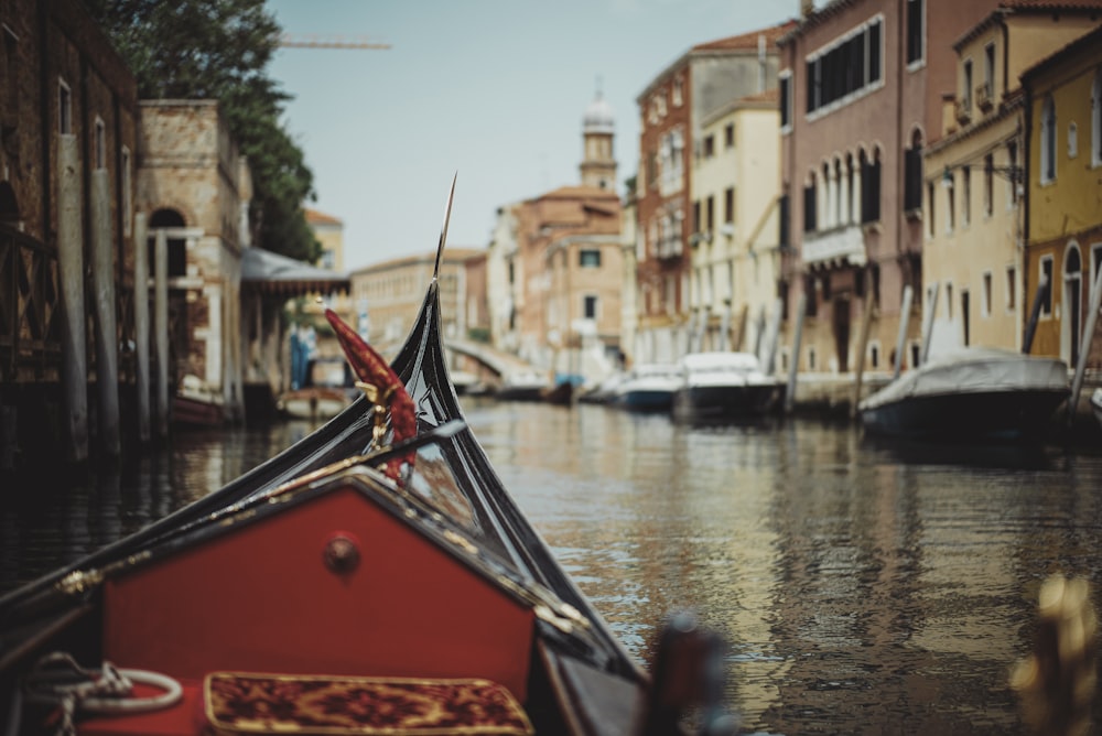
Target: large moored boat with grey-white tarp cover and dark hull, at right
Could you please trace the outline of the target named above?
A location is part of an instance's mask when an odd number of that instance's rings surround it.
[[[1044,433],[1069,393],[1062,360],[968,347],[907,371],[857,410],[876,434],[1008,440]]]

